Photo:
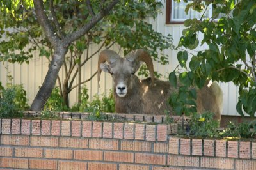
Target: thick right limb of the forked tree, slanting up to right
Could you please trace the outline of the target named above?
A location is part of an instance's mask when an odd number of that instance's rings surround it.
[[[36,1],[36,0],[34,0]],[[92,19],[90,19],[90,22],[84,24],[81,29],[77,29],[77,31],[74,31],[70,35],[67,35],[65,37],[65,42],[71,43],[83,36],[86,32],[88,32],[90,29],[92,29],[93,26],[95,26],[103,17],[108,15],[108,13],[114,8],[114,6],[119,2],[119,0],[113,0],[106,8],[100,10],[97,15],[94,15]]]

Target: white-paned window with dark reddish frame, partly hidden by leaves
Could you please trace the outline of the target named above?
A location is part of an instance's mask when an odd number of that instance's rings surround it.
[[[204,10],[200,13],[190,9],[188,14],[186,14],[186,4],[184,1],[177,3],[173,0],[166,0],[166,24],[182,24],[186,19],[201,18]],[[212,5],[209,5],[203,19],[211,17]]]

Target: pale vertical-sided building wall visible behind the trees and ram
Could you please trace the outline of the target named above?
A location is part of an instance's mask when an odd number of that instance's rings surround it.
[[[172,35],[173,36],[173,44],[177,45],[182,36],[182,30],[184,26],[182,24],[165,24],[165,2],[163,1],[164,8],[163,13],[159,14],[156,20],[148,19],[148,22],[152,23],[154,29],[163,33],[163,35]],[[201,37],[202,38],[202,37]],[[89,53],[93,54],[93,52],[97,51],[99,45],[93,45],[90,47]],[[204,49],[205,47],[202,46],[198,49]],[[196,52],[198,49],[195,49],[191,52]],[[118,47],[113,47],[113,50],[120,52]],[[168,73],[172,72],[174,68],[179,64],[177,61],[177,50],[165,50],[164,51],[169,56],[169,65],[158,65],[157,63],[154,64],[154,69],[163,74],[162,79],[167,79]],[[85,56],[85,55],[84,55]],[[99,54],[97,55],[99,56]],[[86,65],[82,68],[82,80],[84,81],[88,79],[93,73],[97,71],[97,56],[92,58]],[[27,91],[27,96],[29,99],[29,104],[33,102],[33,98],[35,98],[36,93],[38,92],[39,87],[42,85],[44,81],[44,77],[47,73],[48,68],[48,61],[45,58],[42,58],[38,55],[38,52],[35,52],[33,59],[31,59],[29,65],[27,64],[10,64],[10,63],[0,63],[0,81],[2,82],[3,86],[6,85],[8,81],[7,75],[12,75],[13,84],[24,84],[24,89]],[[59,73],[60,79],[63,81],[64,72],[63,70]],[[76,80],[77,83],[77,80]],[[76,84],[75,83],[75,84]],[[95,76],[92,81],[87,82],[86,86],[88,87],[90,93],[90,98],[96,94],[102,93],[109,93],[109,89],[113,86],[113,81],[110,75],[106,73],[102,73],[102,77],[100,79],[100,88],[97,87],[97,77]],[[223,84],[220,83],[221,88],[223,89],[224,94],[224,108],[223,114],[224,115],[238,115],[236,112],[236,103],[237,103],[237,91],[238,88],[234,86],[232,83]],[[72,106],[77,102],[77,89],[74,89],[70,94],[70,105]]]

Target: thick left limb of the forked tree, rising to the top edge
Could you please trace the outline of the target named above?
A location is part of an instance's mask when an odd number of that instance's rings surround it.
[[[42,0],[33,0],[36,12],[36,18],[40,26],[44,29],[44,33],[51,42],[51,44],[56,47],[59,45],[60,38],[55,34],[54,27],[51,25],[51,21],[48,19],[47,14],[45,13],[44,4]]]

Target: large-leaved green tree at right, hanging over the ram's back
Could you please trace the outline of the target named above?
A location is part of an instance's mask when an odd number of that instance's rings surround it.
[[[184,22],[186,29],[180,38],[178,60],[186,71],[179,76],[183,86],[187,88],[195,84],[199,88],[207,78],[213,81],[234,82],[239,86],[237,112],[255,116],[256,112],[256,1],[193,1],[186,7],[198,12],[205,11],[212,4],[211,19],[188,19]],[[217,17],[221,14],[220,19]],[[199,45],[198,35],[204,38],[201,45],[207,49],[188,53]],[[188,67],[189,66],[189,67]],[[170,73],[170,81],[175,82],[174,72]],[[175,84],[174,84],[175,85]],[[180,100],[184,101],[185,98]],[[170,101],[172,103],[172,101]]]

